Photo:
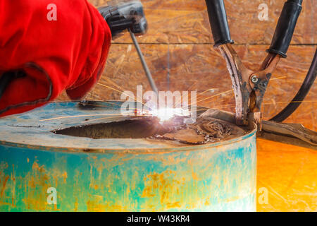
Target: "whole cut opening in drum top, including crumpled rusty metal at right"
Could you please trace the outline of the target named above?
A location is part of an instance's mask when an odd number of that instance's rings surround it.
[[[125,121],[73,126],[52,132],[94,139],[150,138],[155,141],[198,145],[242,136],[246,131],[228,121],[204,114],[192,124],[184,124],[184,117],[177,116],[162,124],[156,117],[139,117]]]

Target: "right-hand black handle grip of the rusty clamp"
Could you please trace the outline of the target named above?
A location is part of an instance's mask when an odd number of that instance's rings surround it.
[[[271,47],[267,52],[279,54],[281,57],[287,57],[287,49],[290,46],[294,29],[302,11],[303,0],[288,0],[285,2],[278,25],[276,26]]]

